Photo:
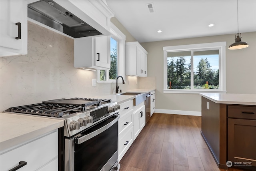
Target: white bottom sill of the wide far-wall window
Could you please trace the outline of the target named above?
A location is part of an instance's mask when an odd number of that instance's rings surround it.
[[[188,94],[197,94],[197,93],[226,93],[225,90],[219,89],[164,89],[164,93],[188,93]]]

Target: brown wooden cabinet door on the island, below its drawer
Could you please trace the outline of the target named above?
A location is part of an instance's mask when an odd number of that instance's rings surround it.
[[[256,120],[228,119],[229,161],[249,162],[248,165],[256,166],[255,133]]]

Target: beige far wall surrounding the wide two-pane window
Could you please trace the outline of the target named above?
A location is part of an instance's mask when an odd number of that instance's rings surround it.
[[[163,46],[227,42],[226,90],[227,93],[256,94],[256,32],[242,33],[242,41],[250,46],[240,50],[228,50],[234,43],[235,33],[220,36],[188,38],[141,43],[148,52],[148,76],[156,77],[156,109],[201,111],[198,94],[163,93]],[[166,111],[165,111],[166,112]]]

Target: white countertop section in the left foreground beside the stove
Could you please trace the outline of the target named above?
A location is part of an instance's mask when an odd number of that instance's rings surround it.
[[[64,126],[64,121],[45,117],[0,113],[0,150],[34,139]]]

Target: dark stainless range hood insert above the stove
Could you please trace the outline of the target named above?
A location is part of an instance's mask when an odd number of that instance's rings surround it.
[[[102,34],[53,0],[40,0],[28,4],[28,18],[73,38]]]

